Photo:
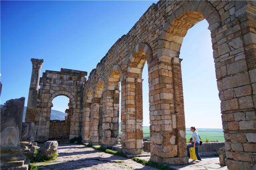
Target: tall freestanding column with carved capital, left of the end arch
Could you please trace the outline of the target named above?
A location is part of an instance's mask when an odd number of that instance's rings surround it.
[[[36,103],[37,103],[40,71],[41,71],[41,67],[44,60],[32,58],[31,62],[32,62],[32,73],[31,73],[30,87],[29,87],[29,93],[28,93],[28,104],[27,104],[25,121],[34,122],[36,117]]]

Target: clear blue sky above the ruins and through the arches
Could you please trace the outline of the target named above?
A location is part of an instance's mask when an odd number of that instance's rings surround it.
[[[42,72],[94,69],[108,49],[156,1],[1,1],[1,104],[26,97],[32,64]],[[186,127],[222,128],[212,44],[204,20],[188,31],[180,58]],[[144,125],[149,125],[147,67],[143,70]],[[64,111],[67,97],[53,101]]]

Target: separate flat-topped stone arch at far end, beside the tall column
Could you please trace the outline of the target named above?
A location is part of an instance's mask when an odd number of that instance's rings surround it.
[[[46,70],[40,77],[38,91],[38,105],[35,118],[36,140],[48,140],[50,126],[50,112],[52,100],[59,95],[70,99],[70,135],[69,138],[80,135],[82,128],[82,89],[87,72],[61,69],[60,71]],[[79,93],[80,92],[80,93]]]

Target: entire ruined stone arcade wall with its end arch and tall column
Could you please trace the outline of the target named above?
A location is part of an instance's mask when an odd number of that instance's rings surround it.
[[[111,147],[118,142],[121,122],[122,151],[140,154],[143,148],[142,69],[147,61],[150,159],[186,164],[179,54],[188,29],[204,19],[212,38],[226,164],[232,170],[255,168],[256,1],[160,1],[152,4],[132,29],[109,49],[90,72],[88,80],[86,72],[70,69],[46,71],[39,80],[42,60],[32,59],[26,121],[35,123],[36,140],[48,140],[52,100],[64,95],[70,99],[69,138],[81,135],[84,142]]]

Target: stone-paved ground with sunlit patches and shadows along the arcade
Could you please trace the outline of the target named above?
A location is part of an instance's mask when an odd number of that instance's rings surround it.
[[[59,156],[55,161],[44,163],[44,170],[156,170],[143,166],[131,159],[107,154],[79,144],[62,144],[58,147]],[[150,157],[140,157],[149,160]],[[218,157],[202,157],[202,161],[189,160],[188,165],[170,166],[179,170],[226,170],[219,165]]]

